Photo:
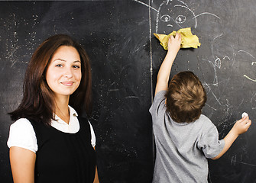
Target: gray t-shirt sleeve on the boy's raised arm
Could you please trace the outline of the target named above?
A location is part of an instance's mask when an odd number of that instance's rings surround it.
[[[153,120],[157,117],[157,115],[159,114],[159,111],[162,111],[162,110],[165,111],[166,92],[167,91],[163,90],[163,91],[157,92],[157,94],[154,96],[153,104],[149,109],[149,112],[151,113]]]

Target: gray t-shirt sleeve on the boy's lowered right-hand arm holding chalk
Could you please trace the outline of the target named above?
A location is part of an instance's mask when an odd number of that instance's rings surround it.
[[[204,155],[208,159],[218,156],[222,152],[224,145],[225,141],[219,140],[219,133],[214,124],[211,125],[198,143],[199,149],[203,150]]]

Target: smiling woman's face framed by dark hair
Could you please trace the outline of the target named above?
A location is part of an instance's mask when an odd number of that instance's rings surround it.
[[[53,54],[46,80],[56,96],[69,96],[78,88],[82,78],[81,60],[74,47],[61,46]]]

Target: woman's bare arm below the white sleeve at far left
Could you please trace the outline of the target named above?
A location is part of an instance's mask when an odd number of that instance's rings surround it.
[[[11,172],[14,183],[34,183],[36,154],[17,146],[10,148]]]

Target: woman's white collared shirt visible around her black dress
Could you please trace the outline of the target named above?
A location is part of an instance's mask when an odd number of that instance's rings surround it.
[[[70,122],[66,124],[63,120],[60,119],[57,115],[54,115],[55,120],[51,120],[51,126],[60,130],[64,133],[76,133],[79,131],[79,121],[77,119],[76,111],[69,106],[70,109]],[[89,122],[89,121],[88,121]],[[91,143],[92,146],[96,146],[96,136],[92,125],[89,122],[91,129]],[[26,118],[21,118],[11,124],[9,138],[7,141],[7,146],[18,146],[24,149],[31,150],[32,152],[37,152],[37,137],[34,133],[34,128],[31,122]]]

